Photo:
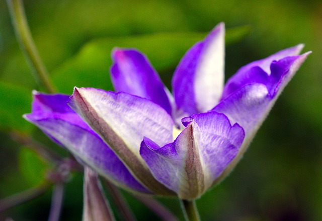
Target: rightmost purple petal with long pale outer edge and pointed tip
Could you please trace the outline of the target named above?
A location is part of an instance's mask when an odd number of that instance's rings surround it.
[[[246,134],[238,156],[215,182],[219,182],[222,177],[229,173],[243,156],[276,99],[309,54],[310,52],[307,52],[299,56],[286,57],[273,63],[270,76],[272,79],[267,85],[260,83],[247,84],[230,94],[213,108],[213,111],[224,113],[231,123],[238,123],[244,128]],[[285,62],[288,64],[285,65]],[[288,68],[285,69],[285,66],[288,66]],[[282,74],[280,74],[281,67],[284,69]]]

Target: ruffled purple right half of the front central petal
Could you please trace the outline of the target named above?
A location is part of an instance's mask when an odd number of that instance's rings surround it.
[[[227,116],[214,111],[186,117],[182,121],[198,125],[198,145],[207,189],[238,154],[245,137],[244,129],[237,123],[231,126]]]

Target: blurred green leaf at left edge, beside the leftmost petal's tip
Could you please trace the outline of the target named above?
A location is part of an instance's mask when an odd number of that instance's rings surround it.
[[[0,129],[28,132],[32,124],[22,115],[31,110],[31,91],[16,85],[0,82]]]

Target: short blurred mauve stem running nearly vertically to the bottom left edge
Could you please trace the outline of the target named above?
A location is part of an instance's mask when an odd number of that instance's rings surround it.
[[[51,206],[48,221],[58,221],[61,213],[62,200],[64,196],[64,184],[57,183],[54,186],[51,198]]]

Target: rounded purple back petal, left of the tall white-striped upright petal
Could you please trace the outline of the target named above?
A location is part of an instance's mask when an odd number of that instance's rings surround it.
[[[135,49],[115,48],[112,58],[111,78],[117,92],[149,99],[171,115],[166,88],[144,54]]]

